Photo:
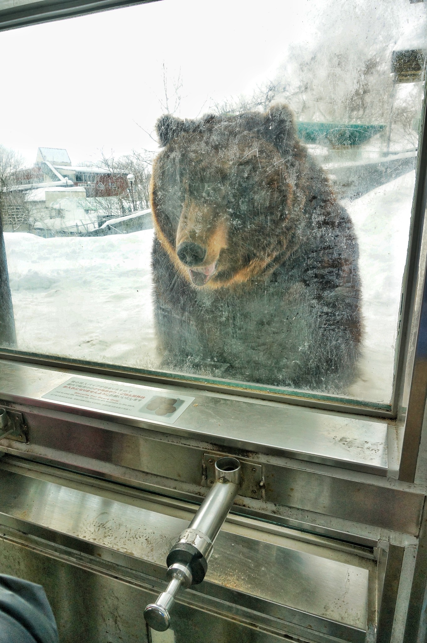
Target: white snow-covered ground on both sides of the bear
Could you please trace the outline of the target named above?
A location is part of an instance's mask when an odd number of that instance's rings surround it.
[[[388,402],[415,172],[345,203],[360,244],[365,339],[351,397]],[[157,368],[152,230],[44,239],[6,233],[20,350]]]

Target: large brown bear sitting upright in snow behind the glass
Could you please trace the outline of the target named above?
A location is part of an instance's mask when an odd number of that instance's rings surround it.
[[[358,244],[290,109],[168,114],[157,134],[152,270],[162,366],[342,390],[362,334]]]

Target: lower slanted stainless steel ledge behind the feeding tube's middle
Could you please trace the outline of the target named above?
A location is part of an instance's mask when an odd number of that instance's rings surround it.
[[[71,488],[59,472],[56,478],[42,477],[13,473],[0,462],[3,570],[13,570],[12,545],[19,545],[112,575],[153,595],[164,586],[168,548],[191,514],[165,513],[155,496],[150,502],[131,502],[116,493],[113,500],[84,479],[80,489]],[[245,535],[239,533],[242,529]],[[271,537],[263,532],[260,538],[250,524],[238,529],[225,523],[206,580],[198,589],[180,593],[177,615],[191,606],[245,620],[250,610],[261,630],[310,641],[362,643],[376,628],[386,572],[386,552],[377,561],[372,550],[351,552],[339,543],[333,549],[310,543],[306,535],[300,540],[296,532],[291,538],[286,530]],[[46,576],[48,588],[51,582]]]

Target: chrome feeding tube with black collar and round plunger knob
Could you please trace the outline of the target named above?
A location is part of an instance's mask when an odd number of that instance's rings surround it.
[[[239,460],[229,457],[217,460],[215,478],[200,509],[168,554],[166,576],[170,583],[166,591],[144,610],[144,619],[151,628],[158,631],[164,631],[170,626],[169,611],[179,588],[182,586],[187,589],[190,585],[202,583],[205,577],[213,543],[239,491]]]

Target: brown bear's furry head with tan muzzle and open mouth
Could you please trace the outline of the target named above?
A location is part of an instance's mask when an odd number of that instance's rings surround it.
[[[286,251],[301,212],[299,144],[292,114],[209,114],[157,121],[163,147],[153,165],[157,237],[195,287],[221,287],[259,275]]]

